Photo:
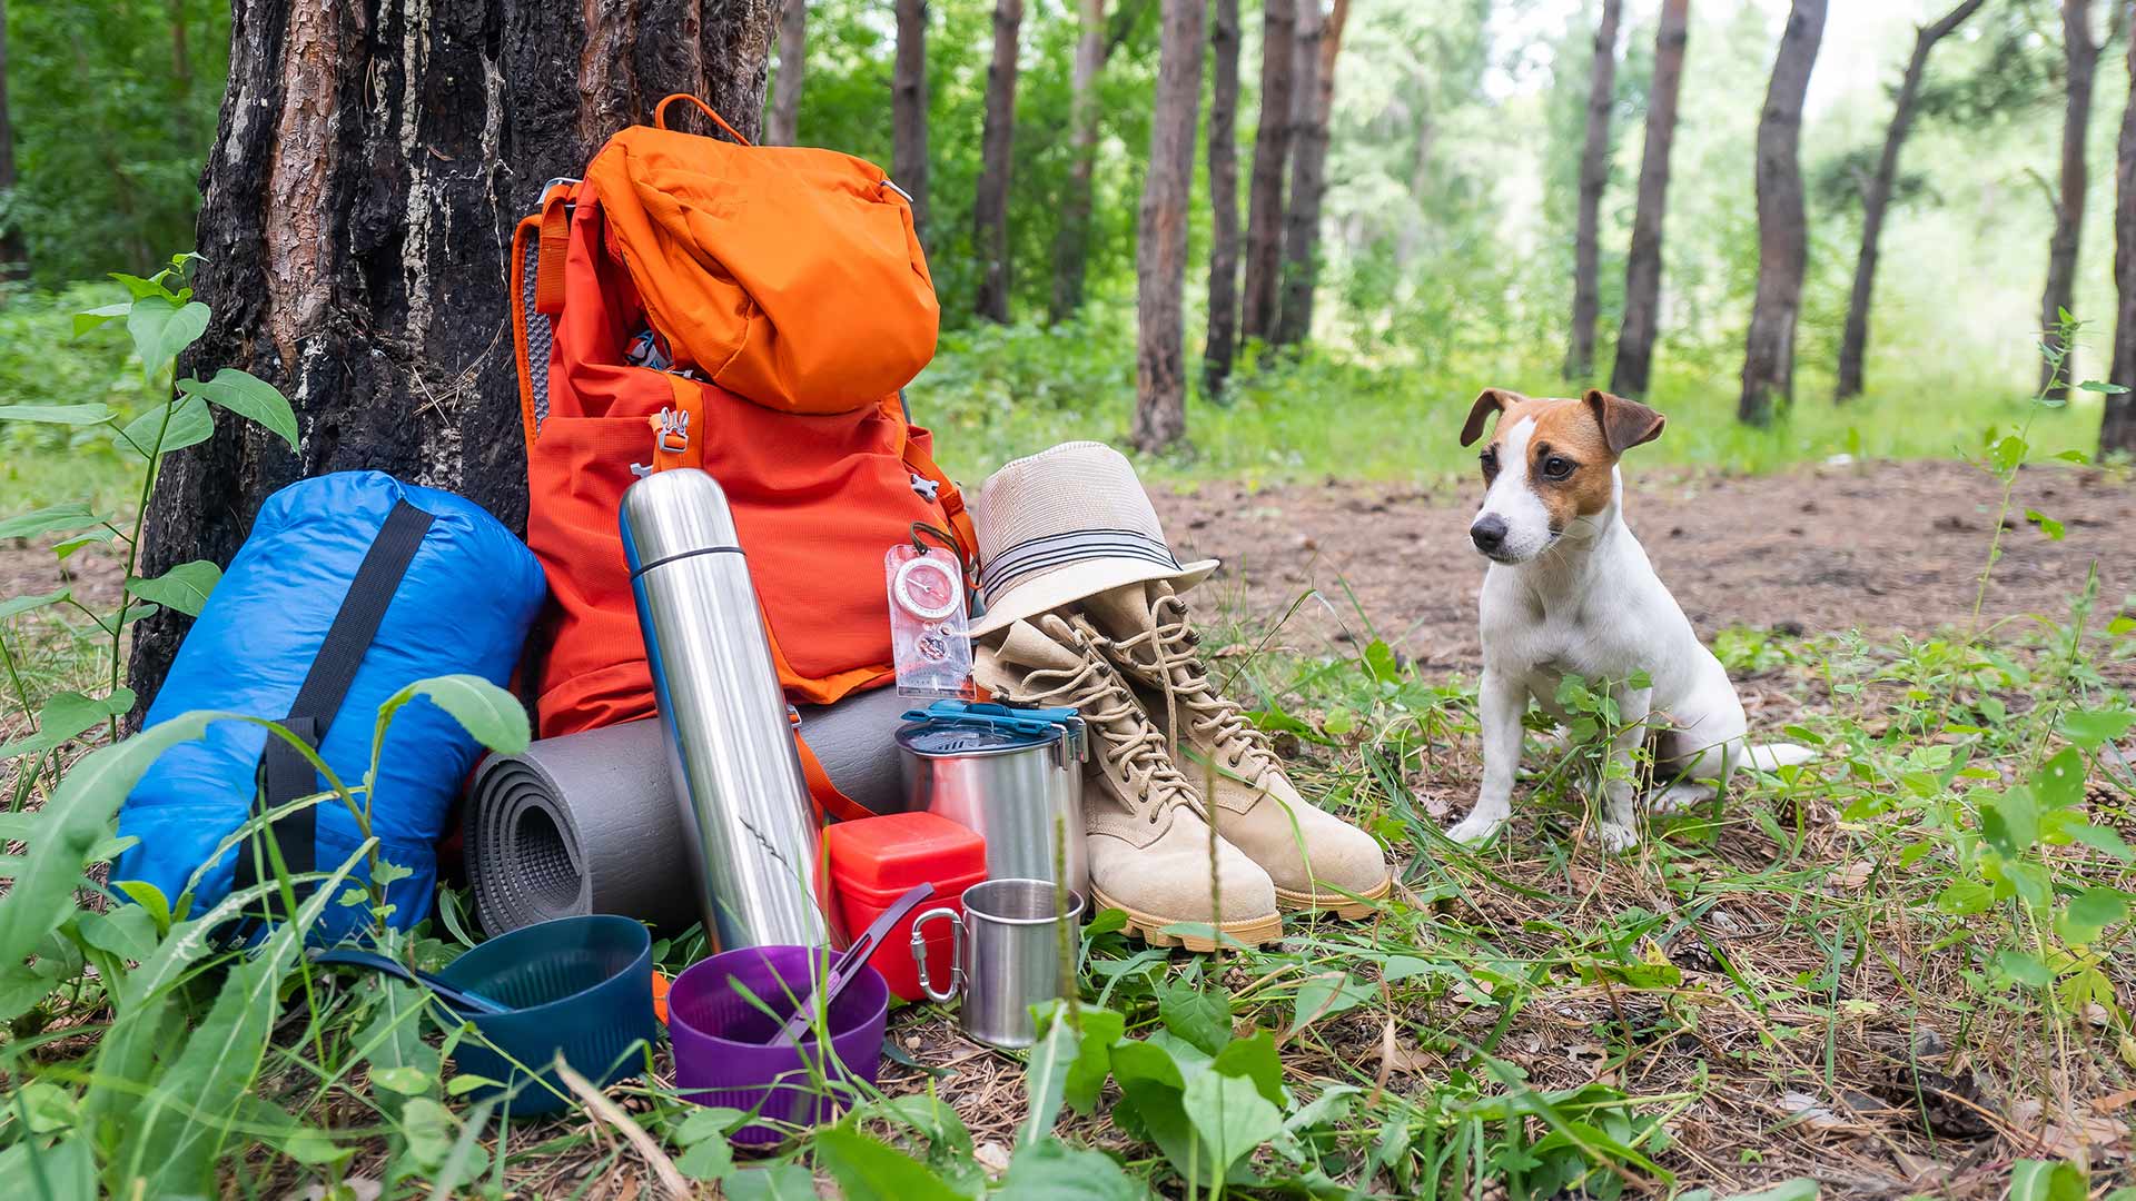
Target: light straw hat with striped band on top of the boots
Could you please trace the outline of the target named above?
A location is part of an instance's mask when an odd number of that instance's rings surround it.
[[[1102,442],[1062,442],[993,472],[972,498],[972,528],[987,603],[974,637],[1124,583],[1185,592],[1218,566],[1179,564],[1134,466]]]

